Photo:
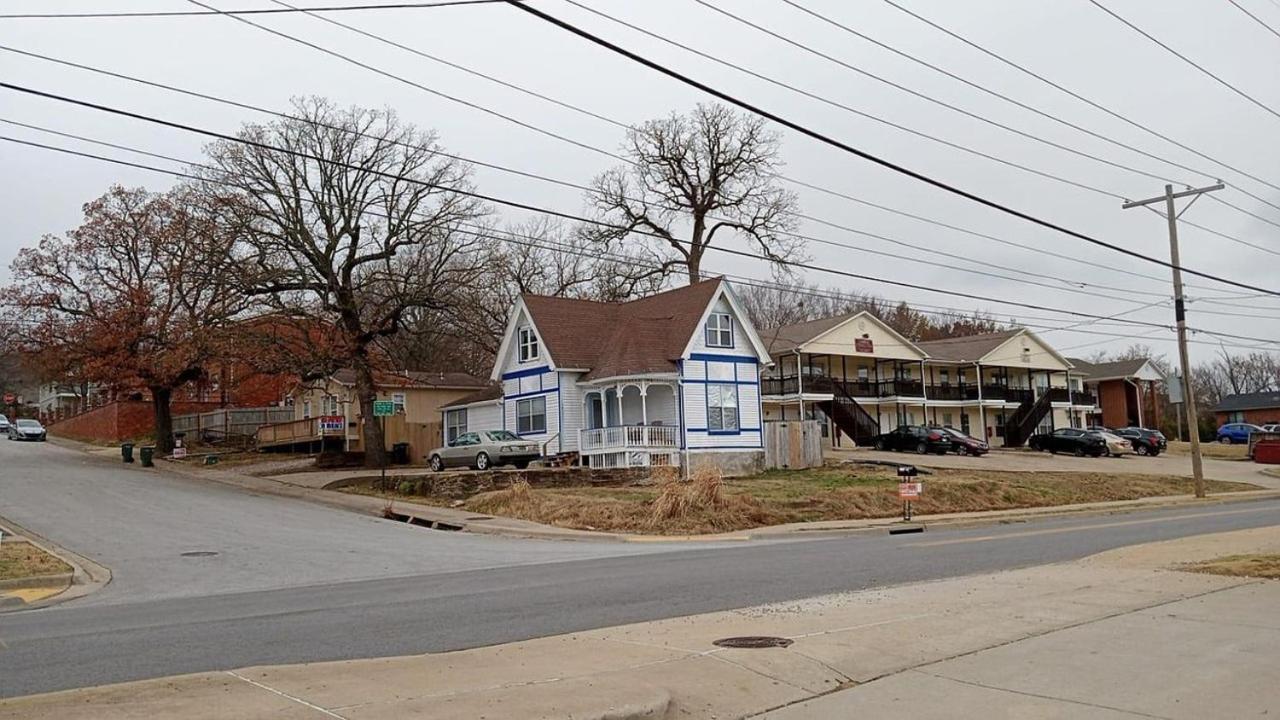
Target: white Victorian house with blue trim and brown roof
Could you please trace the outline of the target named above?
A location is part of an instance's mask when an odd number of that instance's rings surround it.
[[[763,466],[769,354],[731,286],[710,279],[630,302],[524,295],[493,391],[443,410],[447,437],[502,428],[598,468]]]

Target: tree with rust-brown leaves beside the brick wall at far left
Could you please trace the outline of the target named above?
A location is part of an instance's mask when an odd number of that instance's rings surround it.
[[[20,348],[50,377],[146,388],[156,448],[169,452],[173,392],[236,345],[244,301],[220,272],[230,245],[191,188],[113,187],[81,227],[13,261]]]

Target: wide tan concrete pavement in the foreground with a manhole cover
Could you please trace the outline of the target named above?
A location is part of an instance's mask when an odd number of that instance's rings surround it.
[[[927,542],[904,539],[904,561]],[[1280,552],[1280,528],[462,652],[33,696],[0,701],[0,719],[1257,716],[1280,712],[1280,583],[1169,569],[1247,552]],[[791,644],[713,644],[733,635]]]

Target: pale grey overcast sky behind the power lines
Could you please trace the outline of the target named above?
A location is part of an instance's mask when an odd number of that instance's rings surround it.
[[[219,9],[275,6],[268,0],[202,1]],[[694,0],[580,1],[760,74],[776,77],[832,101],[964,147],[1126,197],[1148,197],[1164,192],[1164,183],[1158,179],[1047,147],[913,97],[739,24]],[[1280,205],[1280,192],[1107,117],[982,55],[881,0],[796,1],[984,87],[1160,158],[1204,170],[1207,174],[1193,174],[1172,168],[1009,105],[824,24],[782,0],[712,1],[850,65],[1023,132],[1135,167],[1178,183],[1208,184],[1221,177],[1229,186],[1226,191],[1219,193],[1222,200],[1280,223],[1280,210],[1244,195],[1240,190],[1265,197],[1276,205]],[[1280,117],[1268,114],[1199,74],[1174,55],[1110,18],[1088,0],[899,1],[920,15],[1151,129],[1280,184],[1280,142],[1276,142],[1280,136]],[[1239,1],[1271,27],[1280,28],[1277,0]],[[297,0],[296,4],[319,6],[340,3]],[[628,49],[895,163],[1094,237],[1161,259],[1169,256],[1165,222],[1151,211],[1121,210],[1120,201],[1112,197],[1005,167],[796,95],[690,55],[586,13],[563,0],[536,0],[535,4]],[[1103,4],[1261,102],[1280,109],[1280,82],[1277,82],[1280,36],[1270,33],[1228,0],[1103,0]],[[0,5],[0,12],[4,13],[108,9],[197,8],[180,0],[6,0]],[[326,17],[626,123],[639,123],[673,110],[684,111],[699,101],[708,100],[691,87],[589,45],[502,4],[347,12]],[[388,47],[311,17],[252,15],[250,19],[584,143],[617,150],[622,140],[622,131],[609,123],[521,95],[403,50]],[[588,182],[614,164],[600,154],[379,77],[227,17],[0,19],[0,44],[276,110],[287,109],[289,97],[298,95],[323,95],[342,104],[390,106],[404,119],[438,131],[442,143],[453,152],[579,183]],[[242,123],[266,119],[252,111],[141,87],[12,53],[0,53],[0,76],[17,85],[221,132],[234,132]],[[0,90],[0,118],[189,160],[200,159],[204,143],[202,138],[195,135],[72,108],[8,90]],[[93,149],[78,141],[6,123],[0,123],[0,135],[178,168],[172,163],[141,159],[119,150]],[[884,252],[941,260],[954,268],[1005,265],[1020,272],[995,272],[1053,287],[980,277],[959,269],[934,268],[851,249],[810,243],[808,251],[817,265],[943,291],[987,295],[1103,315],[1160,302],[1158,293],[1165,293],[1166,297],[1171,293],[1169,272],[1160,265],[1096,247],[980,208],[797,133],[783,131],[782,138],[782,151],[787,161],[785,172],[790,177],[979,233],[1103,264],[1110,269],[1009,247],[991,240],[797,188],[801,209],[808,215],[913,245],[961,254],[974,263],[929,256],[882,240],[851,234],[812,222],[805,223],[800,231],[805,234]],[[8,277],[8,264],[20,247],[35,243],[44,233],[59,233],[76,227],[81,219],[82,204],[101,195],[111,183],[146,186],[151,190],[163,190],[173,183],[173,178],[166,176],[9,142],[0,142],[0,168],[4,169],[0,176],[3,183],[0,214],[4,218],[0,225],[3,227],[0,264],[5,266],[5,270],[0,272],[0,278]],[[476,182],[486,193],[570,213],[582,210],[582,197],[577,191],[554,184],[488,169],[476,170]],[[502,214],[511,220],[522,219],[516,211],[502,210]],[[1280,225],[1251,218],[1220,202],[1201,200],[1184,215],[1184,219],[1280,252]],[[1180,232],[1183,264],[1187,268],[1267,288],[1280,288],[1280,272],[1277,272],[1280,255],[1249,249],[1185,225]],[[744,247],[737,240],[732,241],[732,245]],[[768,277],[763,263],[714,252],[708,255],[707,265],[713,272]],[[1147,277],[1125,274],[1123,270]],[[1084,287],[1079,284],[1071,287],[1093,295],[1070,292],[1066,282],[1036,278],[1025,273],[1084,283]],[[1120,350],[1138,341],[1151,345],[1157,352],[1167,354],[1170,359],[1175,357],[1174,336],[1166,329],[1097,323],[1070,331],[1044,332],[1044,327],[1074,324],[1079,319],[946,293],[850,281],[818,272],[808,273],[806,279],[823,286],[870,291],[923,306],[982,309],[1001,319],[1020,319],[1037,332],[1042,332],[1051,343],[1068,348],[1068,355]],[[1188,282],[1192,286],[1188,296],[1201,299],[1189,305],[1189,323],[1193,327],[1280,340],[1280,297],[1242,299],[1240,296],[1249,295],[1248,291],[1194,277],[1188,278]],[[1226,296],[1230,299],[1225,299]],[[1206,297],[1220,299],[1220,302],[1207,302],[1203,300]],[[1215,315],[1208,311],[1261,318]],[[1172,310],[1167,305],[1157,305],[1129,313],[1124,318],[1171,324]],[[1088,334],[1087,331],[1125,337]],[[1207,341],[1210,345],[1193,345],[1193,360],[1203,360],[1217,352],[1215,338],[1197,336],[1196,340]],[[1076,346],[1085,347],[1074,348]],[[1271,347],[1280,350],[1280,345]]]

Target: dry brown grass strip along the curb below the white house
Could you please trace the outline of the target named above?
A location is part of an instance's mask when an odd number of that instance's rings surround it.
[[[915,511],[922,515],[1137,500],[1193,491],[1189,478],[1171,475],[936,470],[920,479],[924,495],[915,502]],[[367,487],[351,489],[374,492]],[[1231,492],[1257,487],[1208,480],[1208,489]],[[378,495],[448,505],[443,498]],[[686,483],[568,488],[520,483],[475,495],[463,501],[462,509],[577,529],[696,534],[782,523],[892,518],[901,512],[901,502],[895,469],[844,464]]]

